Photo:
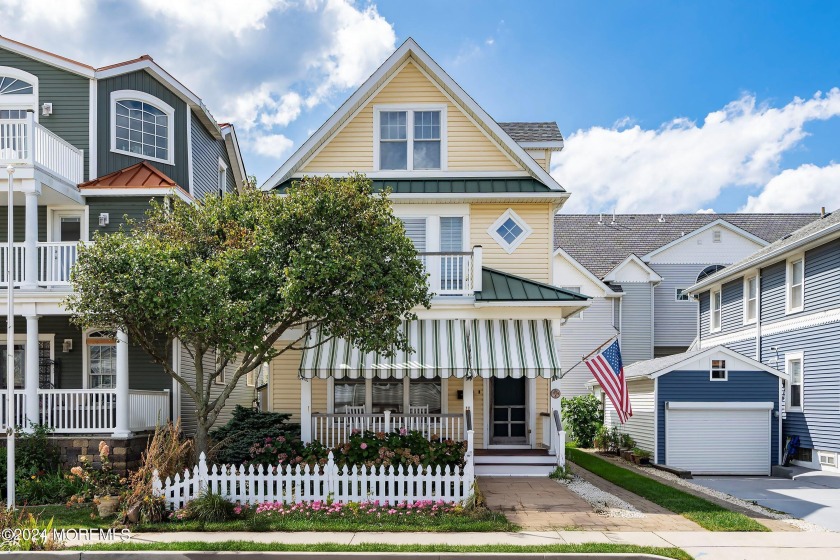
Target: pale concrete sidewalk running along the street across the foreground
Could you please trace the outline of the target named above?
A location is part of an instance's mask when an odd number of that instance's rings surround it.
[[[677,547],[703,560],[835,560],[840,533],[711,533],[708,531],[539,531],[520,533],[136,533],[133,542],[250,541],[284,544],[547,545],[615,543]],[[68,546],[91,541],[68,542]]]

